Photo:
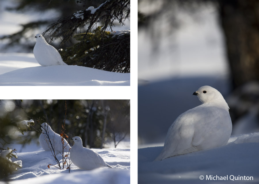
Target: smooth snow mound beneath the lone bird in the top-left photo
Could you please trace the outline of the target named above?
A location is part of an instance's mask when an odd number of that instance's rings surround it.
[[[81,66],[28,67],[0,75],[1,86],[129,86],[129,73]]]

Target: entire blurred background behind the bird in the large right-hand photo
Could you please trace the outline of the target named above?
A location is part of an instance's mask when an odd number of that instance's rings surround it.
[[[138,147],[209,85],[230,107],[233,135],[259,131],[259,1],[138,0]]]

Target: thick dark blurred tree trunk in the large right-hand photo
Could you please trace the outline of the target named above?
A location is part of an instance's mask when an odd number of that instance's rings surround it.
[[[219,1],[233,88],[259,80],[259,1]]]

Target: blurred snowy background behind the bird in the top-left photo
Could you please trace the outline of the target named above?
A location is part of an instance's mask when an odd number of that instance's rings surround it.
[[[105,0],[1,0],[0,52],[32,53],[36,43],[35,35],[42,34],[47,26],[62,17],[70,16],[90,6],[98,7],[104,2]],[[96,26],[100,26],[101,23],[97,23]],[[120,24],[118,20],[113,23],[113,31],[130,28],[129,19],[125,20],[125,25]],[[87,25],[81,27],[82,33],[85,30],[87,30]],[[47,41],[49,35],[43,36]],[[50,44],[56,49],[64,49],[78,42],[72,38],[70,41],[61,46],[61,39],[56,39]]]

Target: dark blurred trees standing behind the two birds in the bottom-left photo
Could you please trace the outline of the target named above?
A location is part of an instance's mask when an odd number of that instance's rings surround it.
[[[28,117],[41,124],[46,115],[49,125],[60,134],[64,122],[65,100],[24,100],[24,103]],[[106,143],[108,138],[111,139],[110,122],[119,122],[122,127],[120,131],[129,132],[128,100],[66,100],[66,105],[65,133],[69,136],[68,141],[74,136],[80,136],[85,147],[100,147],[102,140]],[[106,112],[108,107],[113,113]],[[124,116],[127,116],[127,121],[121,123],[121,117]],[[104,128],[105,118],[107,128]],[[38,124],[34,128],[40,130]]]

